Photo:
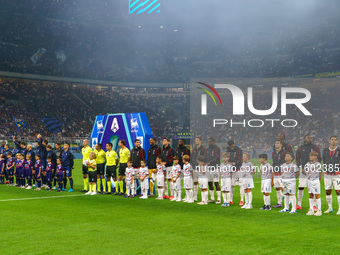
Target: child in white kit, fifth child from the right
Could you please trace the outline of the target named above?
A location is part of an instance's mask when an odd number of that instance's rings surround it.
[[[223,163],[221,164],[221,191],[223,204],[221,206],[230,206],[231,202],[231,178],[233,166],[228,161],[230,159],[230,154],[225,152],[222,154]]]

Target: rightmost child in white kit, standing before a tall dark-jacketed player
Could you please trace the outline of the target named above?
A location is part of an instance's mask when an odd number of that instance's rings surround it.
[[[320,179],[322,166],[317,161],[319,153],[312,151],[309,153],[309,162],[302,169],[303,174],[308,178],[308,193],[309,193],[309,211],[306,215],[321,216],[321,198],[320,198]],[[314,214],[314,196],[317,203],[317,211]]]

